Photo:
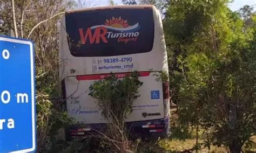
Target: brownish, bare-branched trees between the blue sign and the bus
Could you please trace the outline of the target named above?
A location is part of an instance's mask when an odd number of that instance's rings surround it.
[[[0,18],[4,22],[0,31],[7,34],[8,29],[15,29],[15,20],[17,36],[29,38],[35,43],[37,150],[46,152],[53,144],[49,140],[69,121],[60,109],[58,25],[60,14],[72,8],[75,3],[69,0],[12,2],[0,2]],[[14,14],[12,8],[15,10],[15,18],[10,16]]]

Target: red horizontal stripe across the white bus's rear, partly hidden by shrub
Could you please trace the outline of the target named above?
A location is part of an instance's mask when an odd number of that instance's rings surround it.
[[[139,73],[139,77],[147,77],[150,75],[150,72],[138,72]],[[114,75],[117,78],[124,78],[127,75],[130,75],[131,73],[114,73]],[[79,75],[77,76],[77,80],[81,81],[81,80],[102,80],[105,79],[107,77],[110,77],[111,74],[95,74],[95,75]]]

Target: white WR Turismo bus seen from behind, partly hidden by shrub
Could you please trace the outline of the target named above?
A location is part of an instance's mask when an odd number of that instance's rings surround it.
[[[88,95],[94,81],[133,71],[143,82],[127,117],[127,128],[145,138],[165,137],[169,130],[168,75],[163,26],[152,5],[109,6],[66,12],[60,24],[60,80],[66,111],[76,125],[67,137],[85,136],[106,123],[96,99]],[[157,75],[156,75],[157,74]]]

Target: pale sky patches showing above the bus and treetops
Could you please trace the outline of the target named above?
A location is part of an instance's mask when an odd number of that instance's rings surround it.
[[[108,5],[109,0],[90,0],[91,5],[104,6]],[[114,3],[120,5],[122,4],[122,0],[113,0]],[[230,8],[232,11],[237,11],[244,5],[254,5],[256,7],[256,0],[234,0],[233,3],[230,4]]]

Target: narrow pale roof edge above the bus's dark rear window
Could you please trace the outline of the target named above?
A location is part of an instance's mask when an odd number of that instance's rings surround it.
[[[84,8],[66,11],[66,13],[81,12],[81,11],[91,11],[91,10],[104,10],[104,9],[147,9],[155,8],[154,5],[113,5],[113,6],[98,6],[94,8]]]

